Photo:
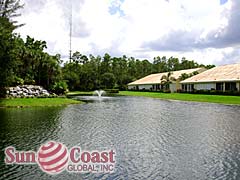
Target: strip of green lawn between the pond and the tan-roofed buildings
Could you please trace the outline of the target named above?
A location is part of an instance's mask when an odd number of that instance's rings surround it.
[[[133,92],[121,91],[119,95],[143,96],[160,99],[173,99],[182,101],[210,102],[219,104],[238,104],[240,105],[240,96],[222,96],[222,95],[203,95],[203,94],[183,94],[183,93],[157,93],[157,92]]]

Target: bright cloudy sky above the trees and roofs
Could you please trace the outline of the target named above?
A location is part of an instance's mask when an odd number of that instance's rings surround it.
[[[17,32],[47,42],[47,52],[186,57],[203,64],[240,63],[240,0],[21,0]]]

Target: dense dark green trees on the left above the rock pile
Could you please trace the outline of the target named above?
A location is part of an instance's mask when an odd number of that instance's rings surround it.
[[[45,41],[27,37],[14,30],[21,25],[12,21],[22,8],[19,1],[0,0],[0,96],[5,88],[18,84],[38,84],[50,88],[61,81],[60,55],[49,55]]]

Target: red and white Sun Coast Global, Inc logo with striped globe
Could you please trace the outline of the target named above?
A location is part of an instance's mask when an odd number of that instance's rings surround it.
[[[5,163],[37,164],[48,174],[69,173],[112,173],[115,168],[115,150],[86,151],[79,146],[68,149],[64,144],[50,141],[40,146],[37,152],[17,151],[9,146],[5,149]]]

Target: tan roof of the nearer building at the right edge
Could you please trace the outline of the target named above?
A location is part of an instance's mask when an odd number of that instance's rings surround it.
[[[240,81],[240,64],[214,67],[181,83]]]

